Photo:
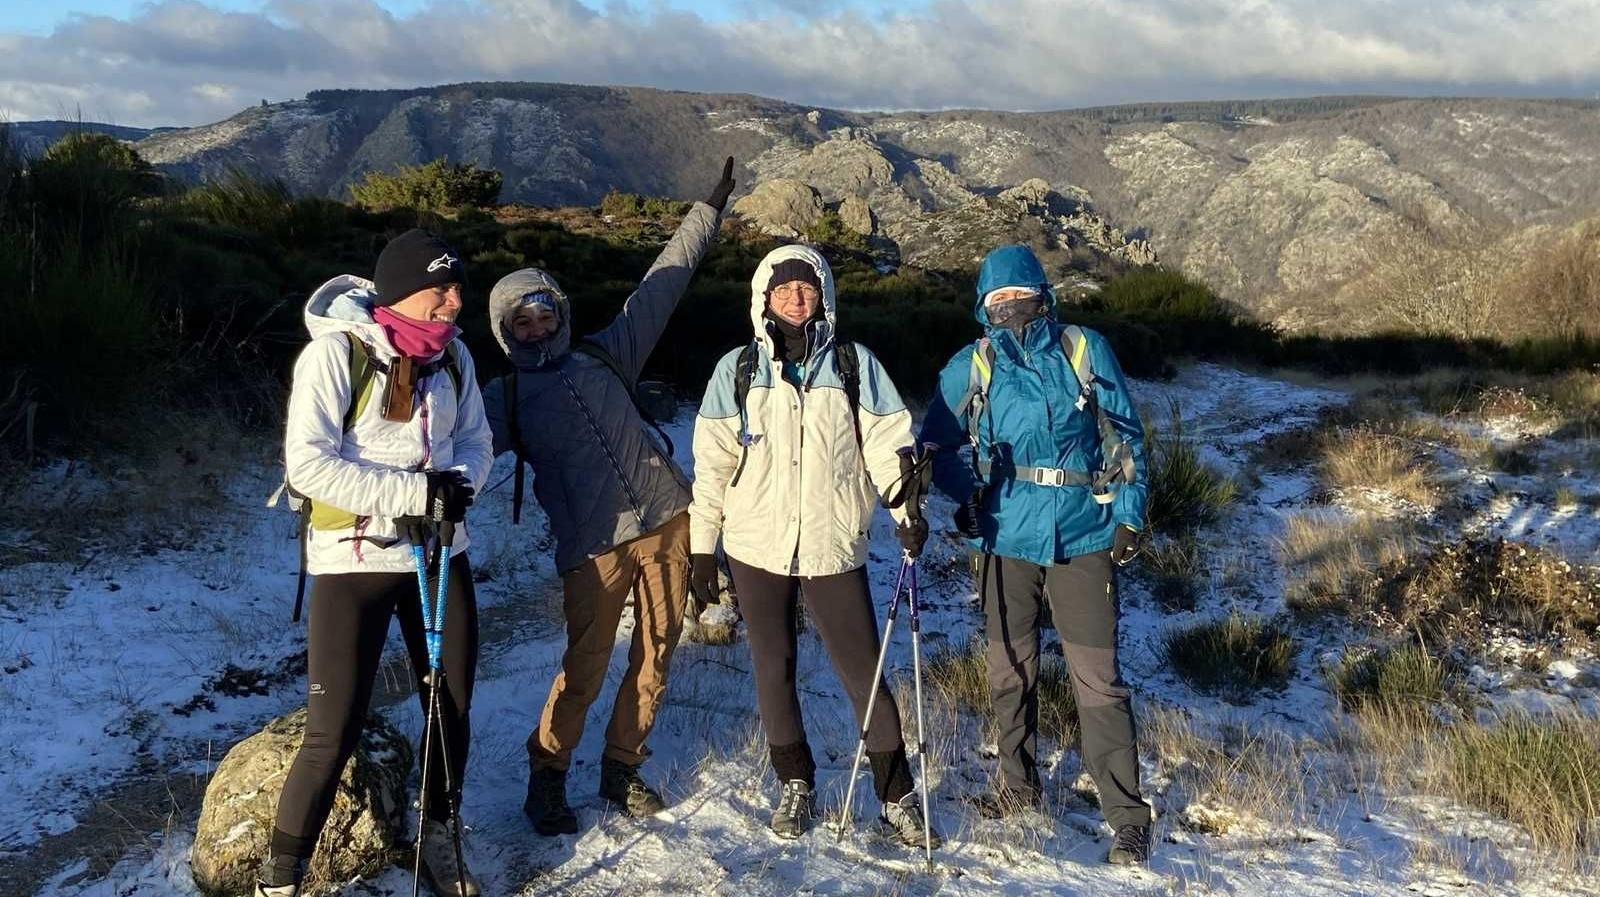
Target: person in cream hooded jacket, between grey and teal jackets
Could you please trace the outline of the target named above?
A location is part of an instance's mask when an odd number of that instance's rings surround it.
[[[781,246],[750,280],[755,339],[712,373],[694,422],[691,588],[718,600],[717,542],[749,630],[757,707],[782,795],[771,828],[798,838],[814,815],[816,761],[795,694],[795,601],[803,596],[856,720],[877,689],[867,756],[890,835],[923,843],[923,809],[899,708],[874,680],[878,627],[867,585],[867,524],[896,492],[910,413],[864,345],[835,337],[834,273],[810,246]],[[891,512],[901,544],[928,526]]]

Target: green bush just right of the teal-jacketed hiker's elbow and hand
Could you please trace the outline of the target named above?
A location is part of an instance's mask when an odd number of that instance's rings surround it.
[[[1157,534],[1182,536],[1216,523],[1234,502],[1235,486],[1200,460],[1192,440],[1184,438],[1182,408],[1168,408],[1166,425],[1147,429],[1149,465],[1146,526]]]

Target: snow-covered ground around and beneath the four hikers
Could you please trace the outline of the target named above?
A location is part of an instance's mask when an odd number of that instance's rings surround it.
[[[1346,398],[1211,365],[1189,366],[1173,382],[1138,382],[1134,393],[1157,419],[1176,400],[1205,457],[1230,473],[1242,472],[1267,435],[1309,424],[1322,408]],[[690,421],[685,409],[674,427],[680,456],[688,454]],[[1566,446],[1574,452],[1582,448]],[[994,748],[982,744],[979,723],[942,702],[930,702],[928,713],[933,812],[947,836],[933,873],[872,833],[877,807],[870,788],[858,791],[856,835],[843,843],[826,825],[797,843],[779,843],[766,830],[776,783],[765,767],[742,641],[715,648],[685,640],[678,648],[653,737],[656,755],[645,767],[672,804],[667,814],[627,820],[594,796],[603,736],[595,720],[610,708],[608,689],[570,777],[582,831],[538,838],[520,809],[523,742],[563,648],[560,584],[538,505],[530,499],[523,523],[510,524],[509,472],[509,459],[501,459],[490,481],[498,488],[472,512],[483,662],[464,817],[472,827],[469,859],[490,895],[1600,892],[1576,876],[1542,879],[1538,863],[1525,859],[1525,838],[1482,814],[1422,798],[1357,795],[1338,783],[1307,783],[1320,788],[1318,796],[1306,801],[1306,819],[1293,828],[1246,820],[1227,835],[1200,835],[1178,825],[1178,817],[1214,801],[1189,795],[1181,775],[1171,772],[1173,758],[1157,764],[1149,744],[1147,790],[1158,811],[1155,859],[1146,870],[1114,870],[1099,862],[1109,833],[1098,811],[1070,787],[1078,777],[1075,751],[1056,748],[1043,758],[1059,788],[1054,815],[984,822],[963,798],[984,790]],[[1464,472],[1462,488],[1483,476]],[[123,843],[107,854],[94,804],[107,795],[149,790],[152,782],[157,793],[160,787],[197,791],[229,745],[301,704],[304,627],[288,622],[296,569],[291,518],[266,510],[261,500],[275,480],[272,468],[240,470],[229,484],[237,500],[226,520],[216,521],[205,544],[187,550],[0,571],[0,894],[195,894],[187,870],[192,814],[162,825],[130,822],[115,833]],[[1579,491],[1600,489],[1592,472],[1573,470],[1571,481]],[[1541,504],[1542,492],[1531,484],[1507,484],[1504,476],[1483,489],[1499,497],[1486,496],[1472,528],[1594,552],[1600,520],[1592,507],[1555,510],[1547,500]],[[1280,739],[1285,755],[1302,750],[1296,745],[1320,744],[1314,739],[1326,734],[1338,708],[1317,657],[1349,633],[1298,632],[1296,678],[1248,705],[1190,691],[1165,667],[1158,648],[1171,628],[1234,608],[1282,611],[1274,542],[1285,516],[1310,507],[1314,492],[1304,472],[1264,473],[1259,486],[1243,491],[1229,518],[1203,539],[1213,576],[1195,611],[1166,612],[1138,584],[1125,588],[1123,665],[1141,715],[1160,718],[1166,728],[1187,720],[1182,724],[1206,737]],[[934,497],[930,520],[946,521],[950,510],[946,499]],[[898,563],[886,516],[880,515],[872,536],[870,572],[877,596],[886,601]],[[981,622],[970,585],[950,572],[957,561],[957,545],[936,536],[925,561],[926,652],[966,644]],[[627,628],[618,636],[611,688],[626,664],[629,636]],[[398,652],[397,633],[390,649]],[[891,664],[909,723],[904,628]],[[1541,694],[1592,712],[1584,683],[1600,680],[1600,668],[1582,659],[1562,664],[1552,665],[1550,680],[1563,688]],[[1496,688],[1493,681],[1482,684]],[[802,644],[800,689],[821,766],[822,807],[832,820],[843,801],[856,731],[811,632]],[[421,729],[410,699],[392,697],[386,713],[403,731]],[[1314,758],[1306,766],[1331,769],[1333,763]],[[1328,772],[1328,779],[1338,774]],[[1221,803],[1227,811],[1227,801]],[[162,806],[152,811],[162,815]],[[1454,819],[1453,830],[1461,835],[1440,843],[1418,819]],[[96,851],[90,851],[91,841]],[[91,852],[120,860],[101,865],[88,859]],[[406,871],[389,870],[346,892],[398,894],[410,887]]]

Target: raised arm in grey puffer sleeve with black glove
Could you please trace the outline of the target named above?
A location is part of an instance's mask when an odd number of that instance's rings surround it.
[[[638,289],[627,297],[618,317],[605,329],[589,339],[598,342],[616,358],[629,382],[638,379],[645,368],[645,360],[667,329],[672,312],[688,289],[694,269],[717,240],[717,229],[722,225],[722,209],[733,192],[733,157],[723,165],[722,181],[712,189],[710,198],[694,203],[683,224],[667,241],[666,249],[656,256],[654,264],[645,272],[645,280]]]

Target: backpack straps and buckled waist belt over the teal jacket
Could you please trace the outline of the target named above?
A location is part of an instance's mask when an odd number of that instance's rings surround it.
[[[1078,398],[1074,403],[1078,411],[1088,409],[1094,414],[1094,422],[1099,429],[1101,437],[1101,468],[1090,473],[1082,470],[1061,470],[1054,467],[1013,467],[1010,468],[1016,478],[1034,483],[1035,486],[1088,486],[1094,500],[1099,504],[1110,504],[1115,494],[1110,486],[1117,481],[1133,483],[1138,478],[1138,470],[1133,465],[1133,449],[1128,446],[1128,440],[1117,432],[1112,425],[1110,417],[1106,409],[1099,405],[1099,397],[1094,392],[1094,361],[1088,352],[1088,337],[1083,328],[1077,325],[1067,325],[1061,331],[1061,350],[1066,353],[1067,361],[1072,365],[1074,374],[1078,377]],[[955,416],[960,417],[966,414],[966,438],[973,446],[973,472],[978,473],[979,480],[987,480],[994,472],[992,462],[981,457],[979,454],[979,429],[982,425],[984,408],[989,405],[989,382],[994,379],[994,363],[995,363],[995,347],[989,337],[978,341],[973,349],[971,373],[966,384],[966,395],[955,406]],[[992,422],[990,422],[990,437]],[[994,440],[990,438],[990,445]]]

